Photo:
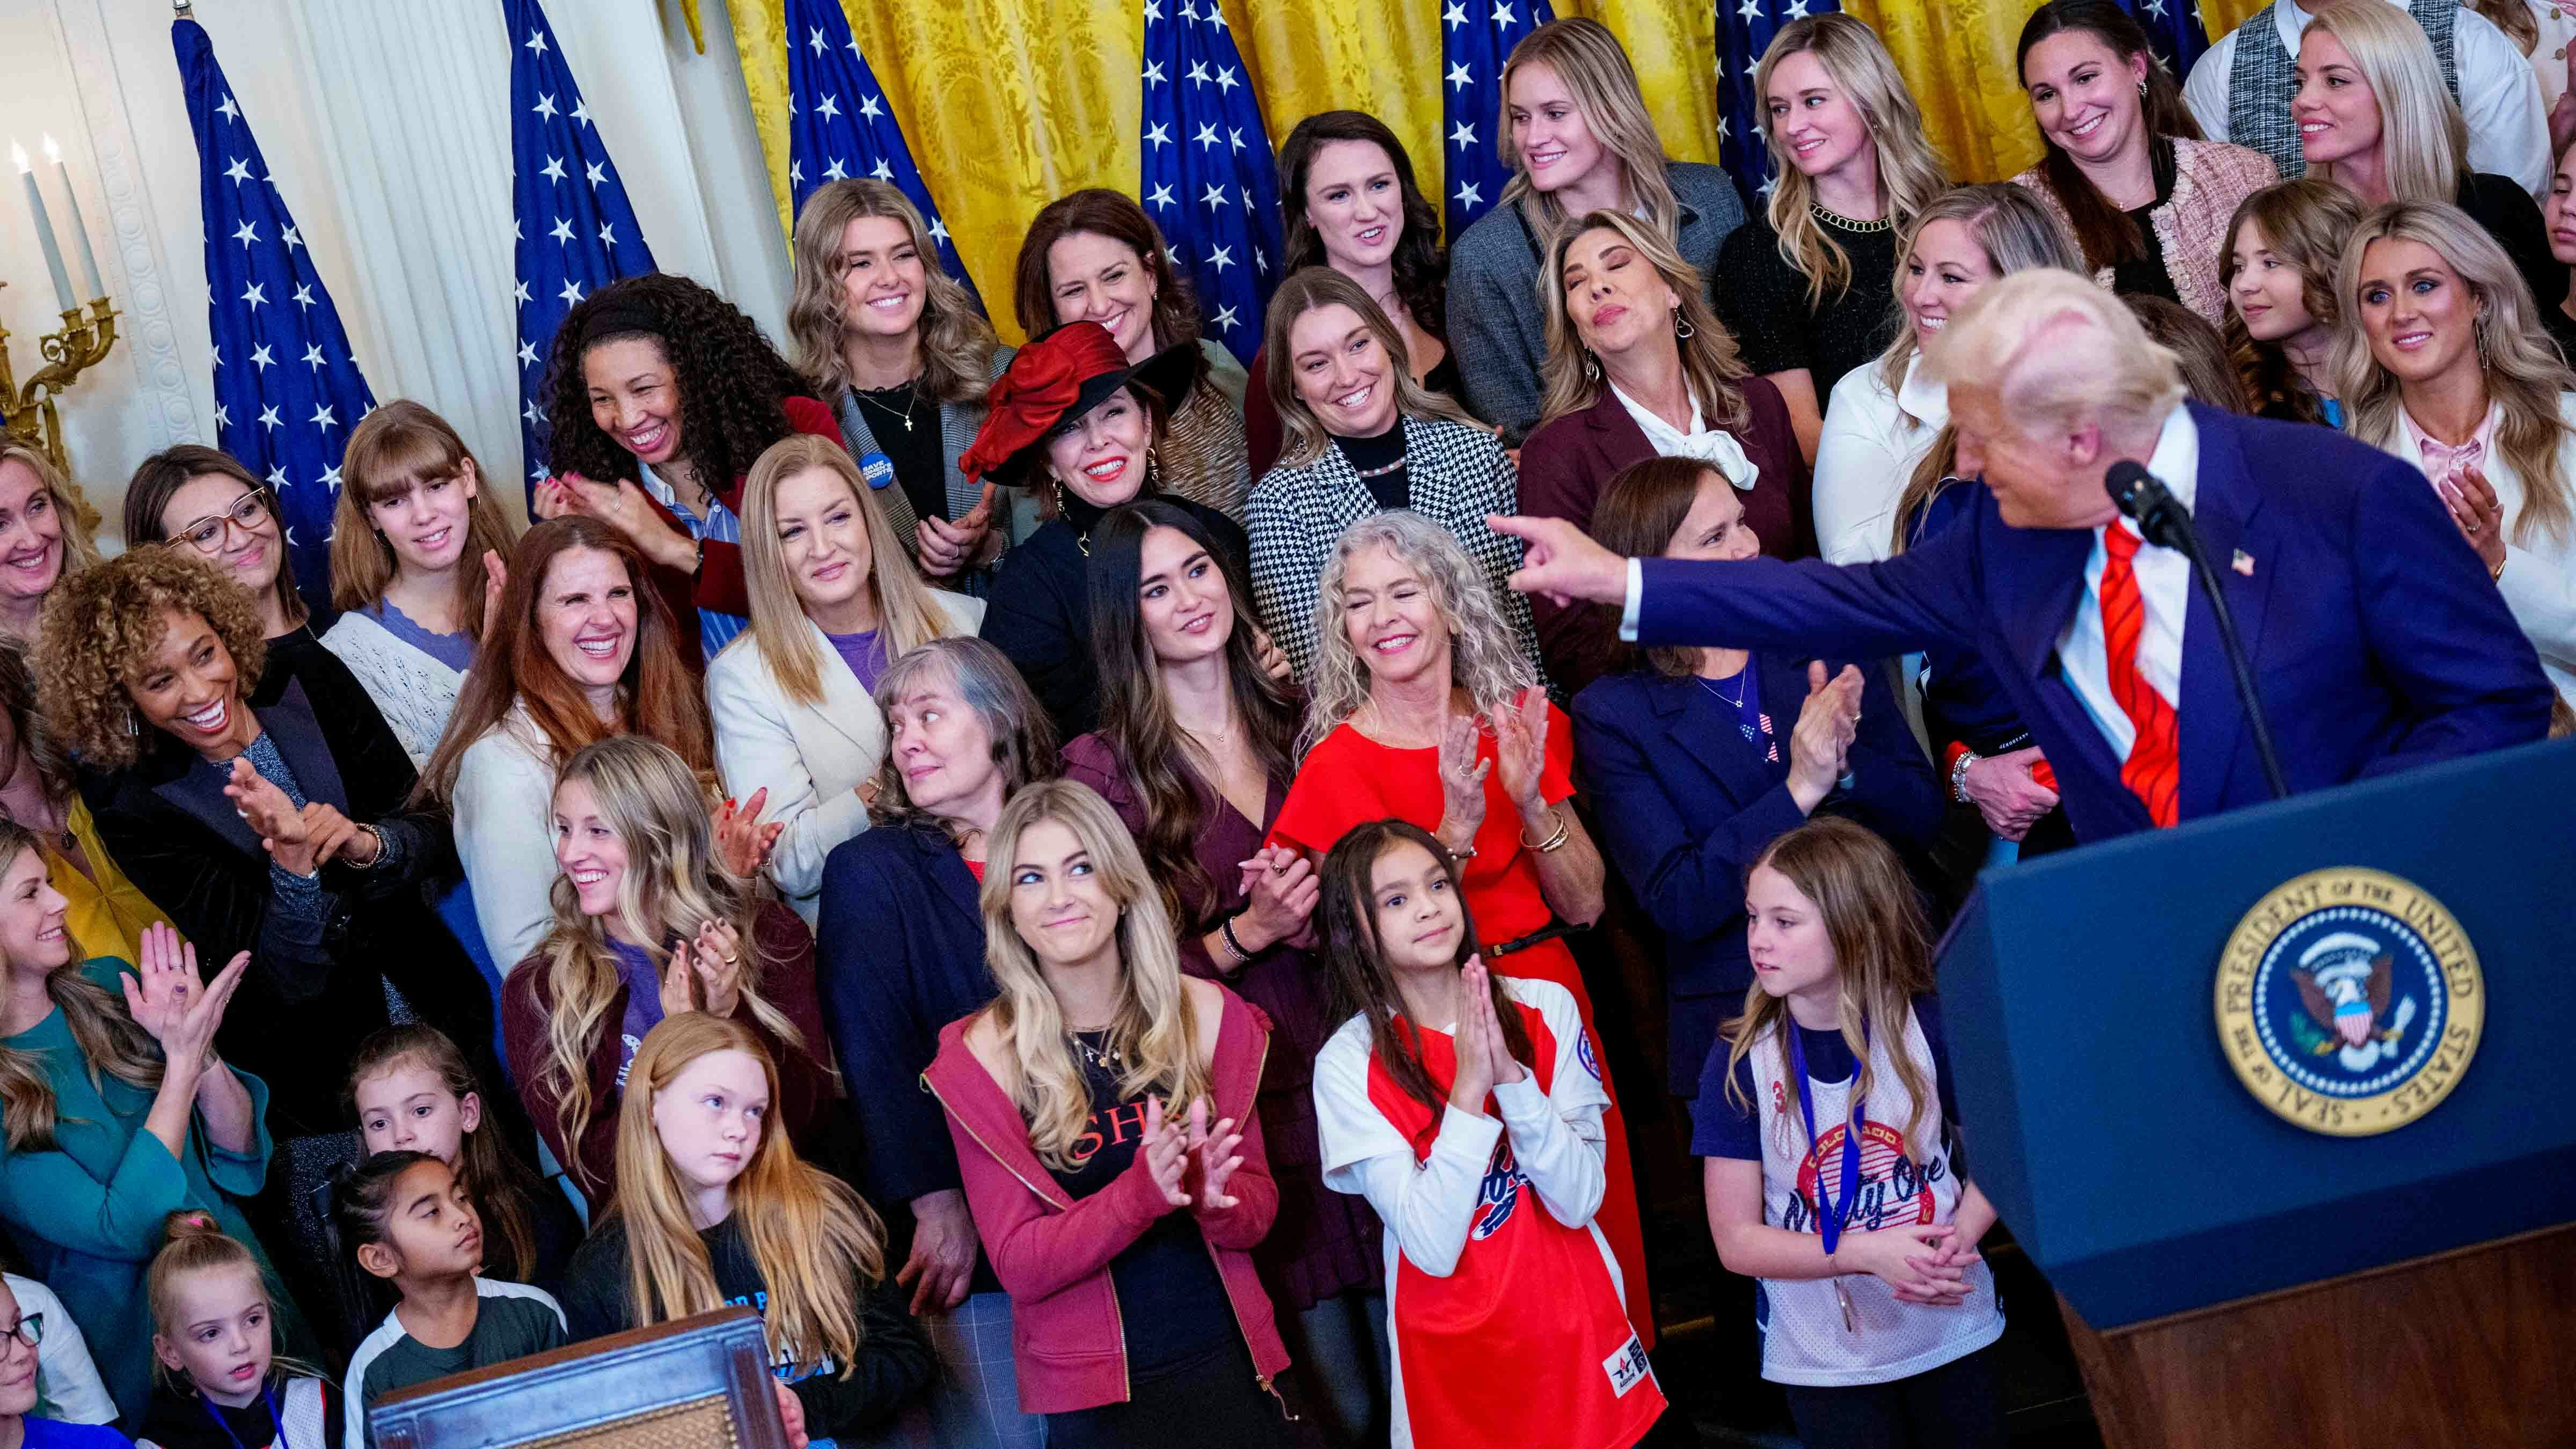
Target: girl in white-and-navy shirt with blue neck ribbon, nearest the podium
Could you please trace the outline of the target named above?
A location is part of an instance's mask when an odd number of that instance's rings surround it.
[[[1754,864],[1744,910],[1754,985],[1690,1147],[1718,1258],[1762,1279],[1762,1377],[1808,1444],[2002,1446],[2004,1312],[1976,1253],[1994,1207],[1953,1160],[1914,884],[1862,825],[1811,820]]]

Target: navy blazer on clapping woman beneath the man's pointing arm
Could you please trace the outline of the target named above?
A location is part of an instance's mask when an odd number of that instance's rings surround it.
[[[1824,660],[1842,673],[1844,660]],[[1736,727],[1731,704],[1698,678],[1654,670],[1602,676],[1574,696],[1574,776],[1602,830],[1602,851],[1664,931],[1667,1062],[1672,1096],[1698,1096],[1718,1024],[1754,982],[1744,954],[1744,874],[1808,817],[1788,794],[1788,737],[1806,701],[1806,660],[1754,655],[1780,763]],[[1906,727],[1886,668],[1860,663],[1852,789],[1816,815],[1842,815],[1922,856],[1942,825],[1940,781]]]

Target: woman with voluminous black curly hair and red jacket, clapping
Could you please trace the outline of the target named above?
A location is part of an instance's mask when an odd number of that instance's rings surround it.
[[[554,477],[533,513],[626,534],[672,616],[696,611],[688,645],[714,660],[752,611],[742,477],[788,433],[837,443],[840,423],[757,322],[685,276],[629,276],[577,302],[546,376]]]

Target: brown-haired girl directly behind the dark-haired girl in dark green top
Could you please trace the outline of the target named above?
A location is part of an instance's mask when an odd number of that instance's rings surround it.
[[[487,1129],[482,1083],[435,1026],[386,1026],[358,1044],[348,1098],[368,1152],[428,1152],[456,1173],[495,1238],[484,1271],[556,1292],[582,1243],[582,1220]]]

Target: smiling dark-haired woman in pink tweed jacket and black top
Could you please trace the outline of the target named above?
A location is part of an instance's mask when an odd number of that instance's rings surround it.
[[[2022,23],[2014,67],[2043,155],[2012,180],[2058,214],[2097,281],[2182,302],[2215,325],[2228,217],[2280,180],[2272,157],[2200,139],[2120,0],[2048,0]]]

